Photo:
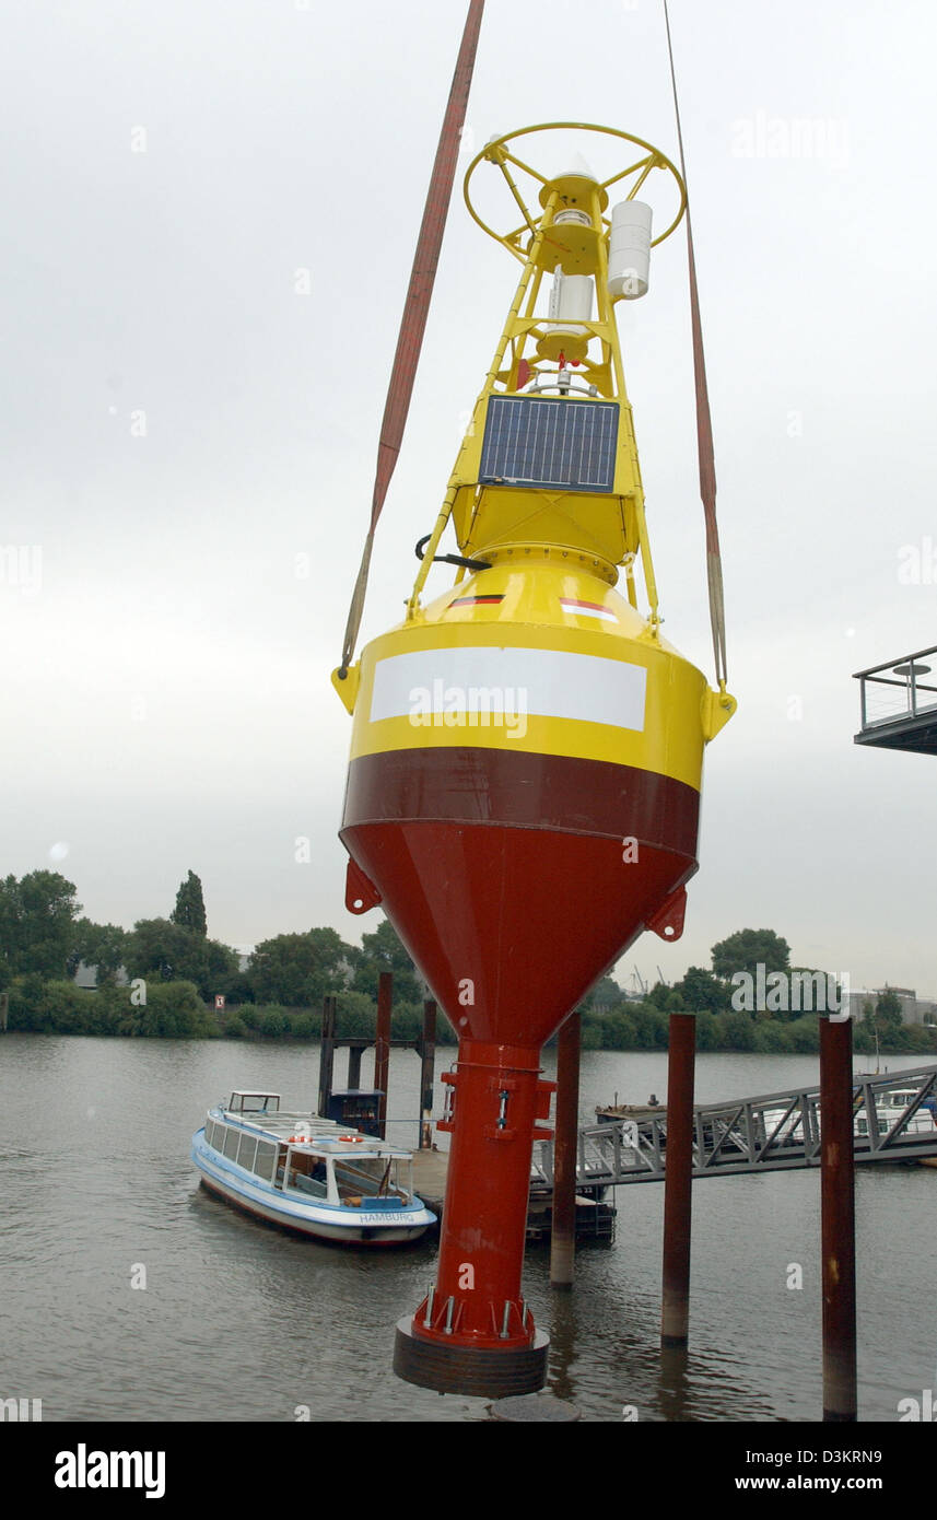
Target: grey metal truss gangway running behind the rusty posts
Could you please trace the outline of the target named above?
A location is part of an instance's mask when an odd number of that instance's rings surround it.
[[[853,1085],[857,1164],[937,1157],[937,1066],[863,1073]],[[662,1183],[667,1110],[627,1111],[579,1131],[577,1192],[600,1195],[623,1183]],[[820,1088],[797,1087],[694,1108],[692,1175],[787,1172],[820,1166]],[[553,1190],[553,1142],[538,1140],[532,1193]]]

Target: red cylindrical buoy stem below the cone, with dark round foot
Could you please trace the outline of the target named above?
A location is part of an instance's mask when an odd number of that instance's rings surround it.
[[[539,1079],[539,1050],[465,1040],[443,1073],[453,1134],[439,1271],[416,1313],[401,1319],[393,1366],[439,1392],[506,1397],[536,1392],[547,1374],[547,1336],[521,1294],[530,1151],[550,1114],[553,1082]]]

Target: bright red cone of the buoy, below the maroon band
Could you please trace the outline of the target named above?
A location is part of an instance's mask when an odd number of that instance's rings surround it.
[[[342,838],[456,1032],[541,1046],[696,862],[547,828],[360,824]],[[471,1003],[468,1002],[471,999]]]

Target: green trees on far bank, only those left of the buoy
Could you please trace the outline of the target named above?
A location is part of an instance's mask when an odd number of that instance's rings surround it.
[[[310,1038],[322,999],[337,997],[339,1034],[371,1035],[381,971],[393,973],[393,1037],[422,1028],[422,979],[384,920],[360,945],[334,929],[275,935],[241,956],[208,935],[202,883],[188,871],[164,918],[131,930],[82,915],[77,888],[55,871],[0,880],[0,994],[9,1028],[59,1034]],[[74,985],[94,967],[93,991]],[[225,999],[216,1014],[214,999]],[[454,1038],[445,1018],[437,1037]]]

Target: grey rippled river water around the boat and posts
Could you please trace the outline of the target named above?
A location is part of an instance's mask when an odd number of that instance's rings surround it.
[[[453,1055],[437,1052],[437,1076]],[[554,1075],[551,1052],[544,1064]],[[814,1081],[811,1056],[697,1058],[700,1102]],[[395,1321],[433,1280],[434,1242],[368,1254],[295,1240],[199,1187],[191,1134],[235,1087],[313,1107],[317,1047],[0,1037],[0,1398],[41,1398],[49,1421],[292,1421],[301,1406],[313,1421],[487,1420],[486,1400],[390,1370]],[[418,1058],[393,1052],[399,1143],[416,1143],[418,1088]],[[664,1053],[583,1053],[582,1122],[615,1093],[651,1091],[665,1097]],[[691,1350],[668,1362],[664,1189],[623,1187],[617,1202],[617,1239],[580,1248],[573,1294],[550,1290],[548,1248],[528,1249],[553,1392],[588,1421],[621,1420],[626,1404],[647,1421],[820,1418],[819,1172],[696,1184]],[[863,1421],[898,1421],[901,1398],[937,1388],[935,1207],[937,1170],[858,1169]]]

